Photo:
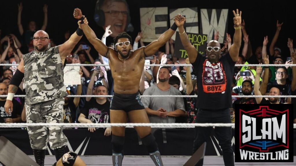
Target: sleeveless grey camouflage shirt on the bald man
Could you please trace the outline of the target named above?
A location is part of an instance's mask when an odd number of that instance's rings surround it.
[[[36,104],[67,96],[63,64],[58,47],[35,50],[23,56],[26,104]]]

